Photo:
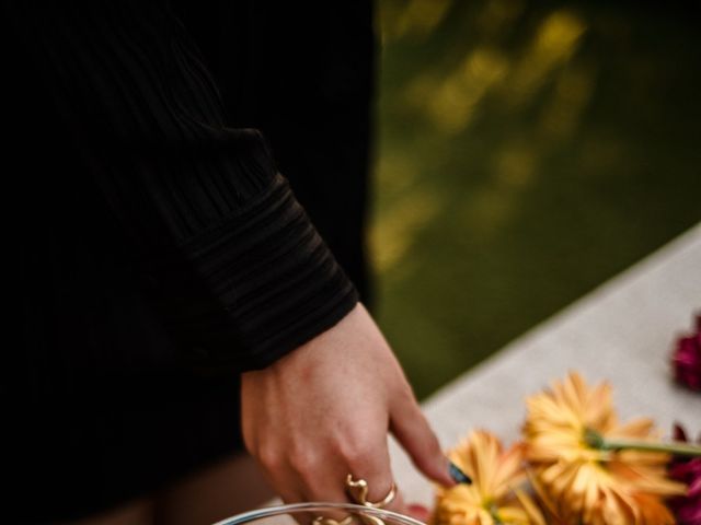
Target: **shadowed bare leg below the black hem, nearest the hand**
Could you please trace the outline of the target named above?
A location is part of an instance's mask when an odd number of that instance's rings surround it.
[[[154,525],[210,525],[261,506],[275,494],[254,460],[240,453],[154,495]]]

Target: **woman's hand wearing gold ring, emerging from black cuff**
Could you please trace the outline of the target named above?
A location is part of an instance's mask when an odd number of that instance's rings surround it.
[[[249,452],[287,503],[347,502],[348,474],[367,480],[369,501],[393,482],[391,431],[416,467],[452,486],[438,440],[392,350],[365,307],[265,370],[242,378]],[[406,513],[401,494],[387,506]]]

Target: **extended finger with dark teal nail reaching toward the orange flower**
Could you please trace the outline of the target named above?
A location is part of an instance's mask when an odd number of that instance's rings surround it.
[[[416,468],[444,487],[456,485],[449,474],[448,458],[414,396],[404,397],[392,408],[390,430]]]

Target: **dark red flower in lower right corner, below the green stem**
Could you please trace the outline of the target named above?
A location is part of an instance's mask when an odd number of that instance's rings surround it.
[[[674,435],[677,441],[687,441],[687,434],[679,424],[675,424]],[[701,443],[701,435],[698,442]],[[701,457],[674,457],[669,463],[669,477],[689,487],[687,495],[669,501],[669,509],[677,516],[677,523],[701,524]]]

